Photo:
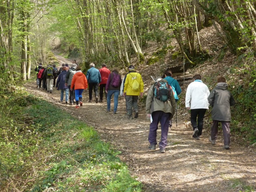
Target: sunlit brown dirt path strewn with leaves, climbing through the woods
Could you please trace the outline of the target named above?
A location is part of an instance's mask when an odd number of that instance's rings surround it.
[[[61,63],[71,60],[56,56]],[[142,75],[143,76],[143,75]],[[255,148],[241,147],[232,141],[230,150],[223,150],[223,135],[220,133],[217,144],[208,141],[209,132],[204,131],[200,140],[192,138],[192,129],[188,122],[175,123],[168,133],[166,153],[148,150],[148,130],[150,121],[145,111],[139,117],[127,120],[125,100],[119,97],[117,114],[106,112],[106,100],[103,103],[89,103],[88,91],[83,92],[83,106],[61,103],[60,91],[53,93],[37,89],[36,83],[25,84],[31,94],[43,99],[76,116],[79,120],[94,126],[102,140],[112,143],[122,151],[120,158],[129,166],[131,174],[144,184],[148,192],[166,191],[211,191],[234,192],[256,188]],[[189,119],[188,119],[189,121]],[[157,141],[161,130],[157,131]],[[157,145],[158,147],[158,145]]]

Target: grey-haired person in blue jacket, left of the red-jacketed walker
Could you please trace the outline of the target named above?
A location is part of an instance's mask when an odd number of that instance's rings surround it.
[[[88,69],[86,73],[86,79],[89,85],[89,102],[92,102],[92,90],[94,90],[95,101],[98,103],[98,89],[99,83],[101,82],[101,75],[100,71],[95,68],[94,63],[90,64],[90,69]]]

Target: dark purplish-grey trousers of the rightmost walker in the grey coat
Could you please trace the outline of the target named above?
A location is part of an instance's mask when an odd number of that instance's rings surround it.
[[[223,131],[223,136],[224,136],[224,145],[229,145],[230,143],[230,122],[229,121],[220,121],[221,126],[222,126],[222,131]],[[211,139],[216,140],[217,135],[218,135],[218,120],[212,120],[212,125],[211,125]]]

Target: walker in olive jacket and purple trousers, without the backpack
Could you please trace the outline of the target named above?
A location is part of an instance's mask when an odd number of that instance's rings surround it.
[[[166,82],[167,80],[159,78],[156,82]],[[146,100],[146,114],[148,117],[152,117],[152,122],[149,126],[148,141],[150,146],[148,149],[156,149],[156,131],[158,129],[158,123],[161,124],[161,141],[159,142],[159,148],[161,153],[165,153],[165,147],[167,146],[167,135],[169,130],[169,121],[173,118],[176,110],[176,102],[173,91],[171,91],[171,98],[167,101],[161,101],[154,96],[155,83],[148,89]]]

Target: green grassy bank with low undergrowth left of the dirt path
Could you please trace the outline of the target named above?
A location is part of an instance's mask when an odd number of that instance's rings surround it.
[[[93,127],[22,91],[0,102],[0,191],[141,191]]]

